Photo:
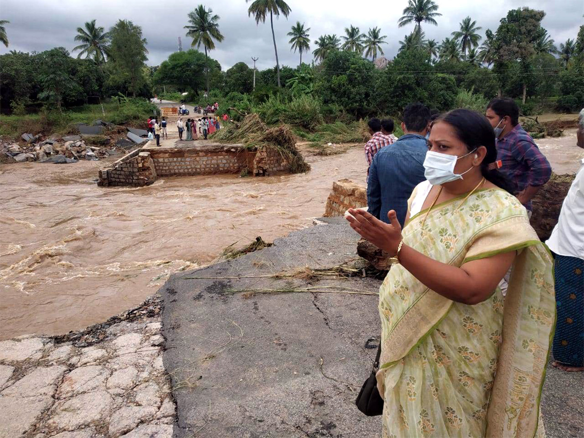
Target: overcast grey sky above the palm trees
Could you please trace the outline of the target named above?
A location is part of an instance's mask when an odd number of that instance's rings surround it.
[[[148,40],[148,65],[159,65],[169,54],[178,50],[178,37],[182,37],[183,50],[192,40],[185,36],[183,26],[187,24],[187,13],[198,4],[213,9],[220,16],[219,26],[225,39],[217,44],[211,56],[221,63],[223,69],[239,61],[252,65],[251,57],[259,57],[257,67],[273,67],[276,64],[270,32],[269,19],[265,25],[256,26],[248,17],[249,4],[245,0],[222,1],[150,1],[150,0],[2,0],[0,19],[9,20],[6,33],[10,46],[0,44],[0,54],[9,50],[43,51],[62,46],[69,51],[74,42],[75,29],[86,21],[97,19],[99,26],[109,29],[118,19],[129,19],[142,27]],[[274,20],[274,31],[281,65],[295,66],[298,54],[290,50],[287,33],[297,21],[310,27],[311,49],[314,40],[325,33],[344,34],[345,27],[359,26],[366,33],[370,27],[381,27],[387,35],[388,44],[383,45],[385,57],[391,59],[397,53],[399,41],[412,31],[413,25],[399,28],[397,21],[407,0],[288,0],[292,9],[288,19],[281,16]],[[477,20],[484,36],[486,29],[493,32],[499,20],[509,9],[529,6],[545,11],[542,25],[550,32],[555,44],[575,38],[584,18],[582,0],[437,0],[442,16],[438,26],[422,25],[426,37],[441,41],[458,30],[458,23],[467,15]],[[303,61],[312,60],[312,53],[304,54]]]

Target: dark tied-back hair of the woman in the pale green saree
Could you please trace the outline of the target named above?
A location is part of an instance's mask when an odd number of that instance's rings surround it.
[[[469,152],[479,146],[486,148],[485,159],[481,163],[481,173],[485,179],[509,193],[517,192],[513,182],[496,168],[495,131],[485,116],[476,111],[456,109],[443,114],[434,123],[440,121],[454,128],[458,140],[467,145]]]

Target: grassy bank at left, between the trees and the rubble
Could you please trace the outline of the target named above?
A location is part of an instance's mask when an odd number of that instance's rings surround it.
[[[37,114],[0,117],[0,135],[15,140],[23,133],[73,134],[77,123],[91,124],[103,120],[117,125],[142,127],[148,116],[157,107],[145,99],[127,99],[122,102],[107,102],[102,105],[83,105],[59,113],[57,110],[41,110]]]

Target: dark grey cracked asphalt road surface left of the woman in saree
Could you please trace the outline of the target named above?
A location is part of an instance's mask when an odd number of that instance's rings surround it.
[[[207,436],[380,436],[380,420],[354,405],[376,353],[365,347],[380,333],[376,295],[234,293],[283,287],[376,293],[381,281],[370,278],[308,285],[253,277],[338,266],[357,258],[358,240],[347,223],[320,225],[166,282],[164,363],[178,387],[178,437],[203,425]]]

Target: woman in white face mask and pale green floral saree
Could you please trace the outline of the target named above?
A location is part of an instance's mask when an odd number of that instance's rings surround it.
[[[383,436],[531,438],[543,433],[551,257],[506,191],[485,117],[444,114],[429,147],[403,230],[393,210],[390,224],[360,210],[347,217],[395,255],[379,301]],[[498,284],[511,266],[503,307]]]

